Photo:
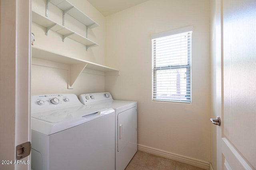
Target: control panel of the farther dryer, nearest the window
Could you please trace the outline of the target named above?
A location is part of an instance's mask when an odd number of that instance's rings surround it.
[[[98,101],[112,100],[110,93],[89,93],[79,96],[79,100],[82,104],[93,103]]]

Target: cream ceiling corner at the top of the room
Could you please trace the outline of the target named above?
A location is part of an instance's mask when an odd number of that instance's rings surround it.
[[[104,16],[114,14],[148,0],[87,0]]]

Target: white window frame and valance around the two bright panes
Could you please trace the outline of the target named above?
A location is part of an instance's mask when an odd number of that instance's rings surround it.
[[[193,31],[193,26],[188,26],[188,27],[184,27],[184,28],[179,28],[179,29],[176,29],[176,30],[170,30],[170,31],[167,31],[167,32],[161,32],[161,33],[157,33],[157,34],[153,34],[151,36],[151,39],[152,39],[152,101],[164,101],[164,102],[178,102],[178,103],[191,103],[192,102],[192,95],[191,95],[191,58],[192,58],[192,31]],[[189,32],[189,36],[190,38],[188,38],[189,40],[187,41],[190,41],[190,45],[188,45],[188,59],[187,59],[187,64],[180,64],[180,65],[168,65],[168,66],[159,66],[159,67],[156,67],[155,66],[155,62],[154,62],[154,59],[155,59],[155,54],[154,54],[154,40],[156,38],[163,38],[163,37],[167,37],[167,36],[172,36],[172,35],[175,35],[175,34],[182,34],[182,33],[186,33],[186,32]],[[186,74],[190,75],[189,77],[186,76],[186,91],[189,93],[187,94],[187,97],[186,100],[182,100],[182,97],[180,96],[179,99],[160,99],[158,97],[156,97],[156,91],[157,91],[157,71],[162,71],[162,70],[174,70],[174,69],[186,69]],[[189,84],[189,85],[188,85]],[[170,86],[172,87],[172,86]],[[174,98],[174,97],[172,97]]]

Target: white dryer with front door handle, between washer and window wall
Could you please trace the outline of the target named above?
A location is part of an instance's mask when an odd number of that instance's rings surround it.
[[[82,94],[79,100],[116,111],[116,170],[124,170],[137,152],[137,102],[113,100],[110,93]]]

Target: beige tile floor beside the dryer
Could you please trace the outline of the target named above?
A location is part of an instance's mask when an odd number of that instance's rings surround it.
[[[125,170],[203,170],[192,165],[137,151]]]

